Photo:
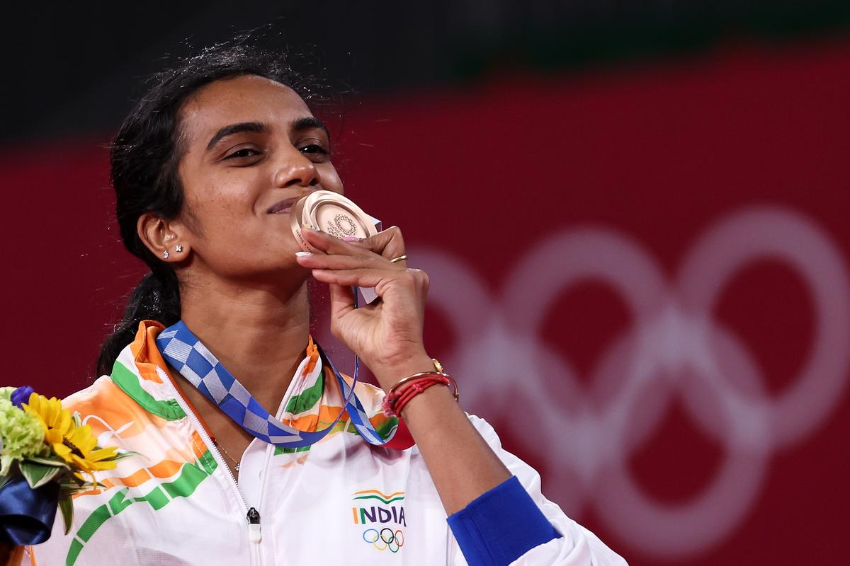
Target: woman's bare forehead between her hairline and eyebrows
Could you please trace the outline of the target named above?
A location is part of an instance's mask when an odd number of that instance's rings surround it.
[[[312,115],[292,88],[255,75],[237,76],[202,87],[186,101],[181,114],[184,136],[190,143],[210,137],[230,124],[261,122],[286,127],[294,120]]]

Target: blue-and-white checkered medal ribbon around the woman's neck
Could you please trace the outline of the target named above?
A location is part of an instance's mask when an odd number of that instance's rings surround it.
[[[212,355],[210,350],[207,350],[205,345],[201,344],[201,340],[197,339],[182,320],[163,330],[156,337],[156,346],[162,357],[190,384],[201,391],[201,394],[218,405],[219,409],[239,423],[243,429],[269,444],[287,448],[313,445],[331,432],[333,426],[343,416],[341,411],[333,423],[325,429],[312,432],[294,429],[281,422],[263,409],[263,406],[248,393],[239,380],[218,361],[216,356]],[[337,371],[331,358],[328,356],[322,356],[322,358],[328,361],[331,370],[337,376],[337,383],[345,400],[345,412],[348,412],[348,417],[360,436],[366,442],[376,446],[387,444],[391,438],[388,440],[381,438],[369,421],[369,416],[357,395],[354,395],[357,371],[354,372],[354,381],[349,385],[343,379],[343,375]]]

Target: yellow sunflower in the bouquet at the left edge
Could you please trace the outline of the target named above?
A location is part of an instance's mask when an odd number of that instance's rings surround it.
[[[92,428],[88,424],[77,426],[59,399],[33,393],[23,407],[42,422],[44,441],[77,472],[86,472],[94,481],[94,471],[115,468],[116,462],[110,460],[116,456],[117,448],[98,448]]]

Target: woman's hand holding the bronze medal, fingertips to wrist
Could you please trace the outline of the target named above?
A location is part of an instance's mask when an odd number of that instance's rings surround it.
[[[308,243],[324,254],[297,255],[317,281],[330,284],[331,333],[360,356],[384,389],[412,373],[433,369],[422,344],[428,275],[409,269],[398,227],[357,242],[304,230]],[[379,299],[354,308],[353,285],[373,287]]]

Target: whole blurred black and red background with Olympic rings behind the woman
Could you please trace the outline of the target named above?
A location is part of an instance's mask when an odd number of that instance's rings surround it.
[[[105,144],[169,56],[258,29],[338,85],[348,195],[403,228],[433,356],[551,499],[633,566],[844,560],[850,4],[23,8],[5,383],[91,381],[144,273]]]

